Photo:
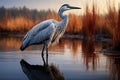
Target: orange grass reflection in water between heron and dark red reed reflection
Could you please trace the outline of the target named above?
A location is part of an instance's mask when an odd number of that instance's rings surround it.
[[[81,40],[77,39],[61,39],[58,44],[52,45],[50,50],[65,52],[65,47],[69,49],[72,55],[75,57],[80,52]]]

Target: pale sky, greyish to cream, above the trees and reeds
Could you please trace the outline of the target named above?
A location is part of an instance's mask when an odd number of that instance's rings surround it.
[[[96,4],[99,13],[103,14],[107,12],[107,2],[111,1],[111,4],[115,4],[116,9],[118,9],[118,3],[120,6],[120,0],[0,0],[0,7],[4,6],[6,8],[11,7],[23,7],[26,6],[30,9],[52,9],[58,11],[60,6],[63,4],[70,4],[74,6],[81,7],[81,10],[72,10],[71,13],[84,14],[85,5],[88,4],[91,8],[93,2]]]

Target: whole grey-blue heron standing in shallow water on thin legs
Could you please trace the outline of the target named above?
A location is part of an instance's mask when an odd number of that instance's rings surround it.
[[[70,9],[81,8],[70,6],[69,4],[63,4],[58,11],[58,15],[61,18],[61,21],[49,19],[36,24],[24,36],[20,50],[23,51],[31,45],[43,44],[41,56],[44,65],[46,63],[48,64],[48,48],[51,44],[58,42],[61,36],[64,34],[68,24],[68,16],[64,15],[63,12]],[[44,49],[46,49],[46,62],[44,59]]]

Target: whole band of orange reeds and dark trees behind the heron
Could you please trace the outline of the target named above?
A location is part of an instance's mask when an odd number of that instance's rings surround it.
[[[108,3],[108,11],[99,14],[99,9],[95,4],[92,8],[86,4],[83,15],[69,14],[69,23],[66,29],[67,34],[83,35],[85,39],[111,39],[113,46],[120,46],[120,8],[116,8]],[[0,7],[0,33],[26,33],[35,24],[46,19],[56,19],[60,17],[54,10],[36,10],[23,8]]]

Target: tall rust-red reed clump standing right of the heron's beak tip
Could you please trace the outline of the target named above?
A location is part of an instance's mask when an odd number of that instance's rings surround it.
[[[97,18],[97,12],[95,5],[93,4],[92,11],[90,11],[88,5],[86,5],[86,12],[85,15],[83,16],[82,31],[83,31],[83,35],[89,39],[93,39],[94,37],[96,18]]]

